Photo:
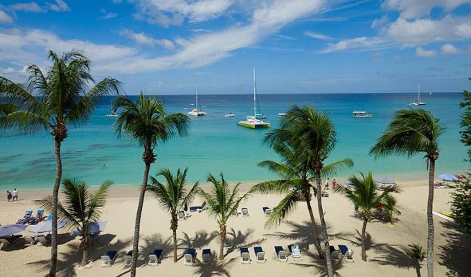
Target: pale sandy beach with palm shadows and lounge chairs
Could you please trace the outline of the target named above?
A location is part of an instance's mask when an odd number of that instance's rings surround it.
[[[339,180],[341,181],[341,180]],[[359,235],[361,220],[353,216],[353,205],[343,195],[332,193],[323,198],[326,211],[328,233],[332,236],[331,245],[346,244],[355,251],[355,262],[335,262],[335,269],[340,276],[417,276],[414,267],[409,268],[409,261],[404,254],[407,244],[419,243],[424,247],[427,242],[427,222],[425,207],[427,186],[425,180],[399,181],[402,192],[396,194],[398,208],[402,211],[399,221],[391,226],[381,222],[368,224],[368,262],[361,259]],[[247,190],[251,184],[243,184]],[[452,189],[436,189],[434,211],[450,212],[450,195]],[[26,210],[36,211],[39,206],[35,199],[40,199],[48,191],[34,190],[20,193],[19,202],[0,202],[0,223],[11,224]],[[93,260],[90,269],[78,270],[82,251],[78,249],[78,240],[69,232],[60,229],[58,247],[58,271],[62,276],[126,276],[128,267],[123,265],[123,253],[132,248],[134,217],[139,191],[137,186],[114,186],[109,193],[107,205],[103,210],[103,220],[107,220],[105,232],[91,246],[89,258]],[[242,204],[249,209],[249,217],[232,217],[228,224],[226,257],[222,262],[214,261],[204,265],[201,260],[202,249],[213,251],[217,256],[220,240],[217,236],[218,226],[205,211],[190,213],[188,220],[179,222],[179,261],[172,260],[172,242],[170,217],[162,211],[152,195],[146,196],[141,219],[140,253],[137,274],[139,276],[323,276],[323,261],[317,258],[312,242],[312,231],[308,222],[308,211],[305,203],[299,202],[296,210],[285,222],[272,229],[265,229],[265,215],[262,207],[273,207],[278,204],[282,195],[255,194]],[[315,201],[312,200],[313,202]],[[195,199],[194,205],[201,204]],[[314,205],[315,206],[315,205]],[[318,218],[317,210],[314,210]],[[435,276],[470,276],[471,265],[468,261],[471,240],[457,231],[454,224],[434,217],[435,222]],[[22,235],[31,235],[27,231]],[[301,247],[302,261],[288,262],[276,260],[274,247],[281,245],[287,249],[288,244],[297,243]],[[0,251],[0,276],[45,276],[48,273],[50,247],[33,245],[23,247],[24,240],[15,242],[8,249]],[[265,251],[266,262],[256,262],[254,246],[261,246]],[[193,266],[184,265],[181,256],[185,249],[197,250],[197,262]],[[240,247],[249,247],[251,263],[242,265]],[[163,260],[157,267],[146,264],[148,253],[154,249],[163,249]],[[100,256],[106,251],[116,250],[120,256],[112,267],[100,267]],[[215,260],[215,259],[213,259]],[[425,262],[420,269],[426,275]],[[453,275],[454,274],[454,275]]]

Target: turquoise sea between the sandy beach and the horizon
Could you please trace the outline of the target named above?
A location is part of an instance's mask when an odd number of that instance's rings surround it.
[[[326,110],[335,123],[339,142],[329,161],[350,157],[355,167],[346,170],[347,176],[359,171],[372,171],[375,175],[420,175],[426,177],[423,155],[412,159],[389,157],[374,160],[368,150],[384,131],[394,111],[408,108],[414,93],[378,94],[284,94],[260,95],[261,106],[272,127],[278,125],[278,113],[290,105],[312,105]],[[160,96],[168,112],[184,112],[194,102],[194,96]],[[468,168],[463,162],[466,148],[459,141],[459,109],[461,93],[434,93],[423,95],[427,105],[447,128],[441,137],[441,156],[437,174],[459,173]],[[115,184],[139,184],[143,174],[142,149],[130,139],[116,139],[112,124],[107,118],[109,102],[96,109],[89,123],[80,128],[69,127],[69,137],[62,144],[64,177],[82,177],[89,184],[100,184],[111,179]],[[267,129],[247,129],[236,123],[251,114],[252,98],[249,95],[201,95],[201,105],[208,116],[192,118],[189,134],[159,145],[155,152],[157,161],[151,167],[154,175],[161,168],[188,167],[188,181],[206,181],[208,172],[213,175],[223,171],[229,181],[261,181],[274,175],[256,163],[277,159],[262,144]],[[234,118],[225,118],[232,111]],[[352,111],[369,111],[373,118],[352,118]],[[104,168],[100,168],[105,164]],[[53,141],[48,132],[28,135],[0,134],[0,188],[43,188],[53,184],[55,160]]]

